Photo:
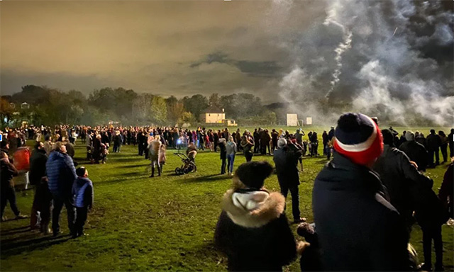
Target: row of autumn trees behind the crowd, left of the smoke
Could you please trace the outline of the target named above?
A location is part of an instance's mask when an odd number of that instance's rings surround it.
[[[240,125],[275,125],[278,116],[262,105],[253,94],[220,96],[195,94],[167,98],[138,94],[132,89],[95,89],[88,96],[81,91],[60,91],[48,86],[27,85],[12,96],[1,96],[2,127],[27,120],[34,125],[104,125],[118,121],[122,125],[182,125],[200,123],[201,113],[209,106],[223,108],[226,118]],[[21,107],[28,103],[27,107]]]

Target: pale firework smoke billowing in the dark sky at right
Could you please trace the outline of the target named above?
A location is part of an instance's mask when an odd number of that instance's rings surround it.
[[[280,41],[294,61],[279,95],[292,105],[289,111],[323,116],[319,122],[360,111],[385,123],[453,125],[452,7],[443,1],[326,2],[326,17]]]

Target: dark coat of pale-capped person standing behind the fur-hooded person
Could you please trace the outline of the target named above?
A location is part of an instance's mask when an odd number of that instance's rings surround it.
[[[283,147],[273,152],[273,161],[276,166],[277,180],[280,186],[298,186],[298,156],[289,147]]]

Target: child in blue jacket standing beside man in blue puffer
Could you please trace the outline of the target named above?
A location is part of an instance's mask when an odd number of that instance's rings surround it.
[[[72,186],[74,206],[76,207],[76,222],[74,224],[73,238],[84,235],[84,225],[87,213],[93,207],[93,183],[88,179],[85,167],[76,169],[77,179]]]

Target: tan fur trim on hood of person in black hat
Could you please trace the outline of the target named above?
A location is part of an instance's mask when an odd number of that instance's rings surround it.
[[[242,227],[262,227],[268,222],[278,218],[284,212],[285,198],[280,193],[270,193],[264,196],[262,191],[256,191],[260,202],[255,205],[238,205],[238,193],[234,203],[235,192],[231,189],[226,191],[222,199],[222,208],[227,212],[228,217]],[[267,194],[267,193],[266,193]]]

